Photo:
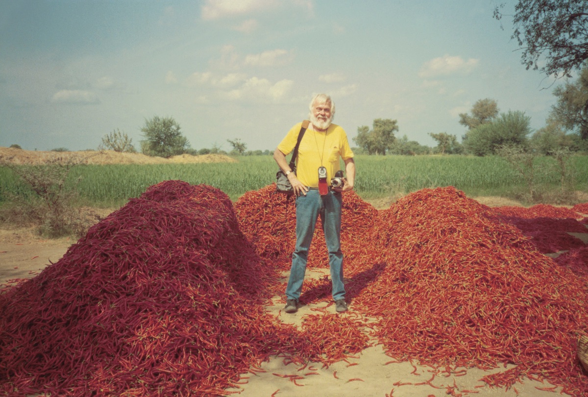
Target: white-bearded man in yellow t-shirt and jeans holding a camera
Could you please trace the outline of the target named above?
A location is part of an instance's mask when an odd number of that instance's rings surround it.
[[[286,162],[286,155],[296,146],[302,123],[290,129],[273,154],[278,166],[288,175],[288,180],[296,194],[296,248],[292,253],[292,268],[286,287],[284,309],[286,313],[294,313],[298,310],[298,299],[302,291],[310,242],[320,215],[329,251],[335,309],[337,312],[345,312],[348,308],[343,285],[343,253],[340,248],[341,192],[353,190],[355,162],[345,130],[331,124],[335,116],[335,103],[330,96],[315,95],[310,101],[309,109],[310,125],[298,148],[296,174]],[[339,158],[345,162],[347,178],[343,179],[343,187],[332,188],[330,181],[335,176],[335,172],[340,169]],[[326,183],[329,186],[323,184],[319,192],[319,172],[324,172],[325,169]],[[321,183],[324,181],[323,178]]]

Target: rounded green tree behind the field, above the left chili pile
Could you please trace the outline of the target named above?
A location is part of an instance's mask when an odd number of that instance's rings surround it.
[[[149,156],[169,158],[190,147],[188,138],[182,135],[179,124],[171,117],[146,119],[141,132],[145,137],[141,141],[141,151]]]

